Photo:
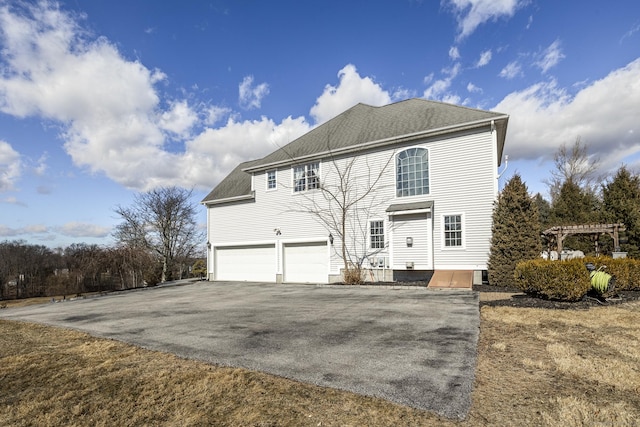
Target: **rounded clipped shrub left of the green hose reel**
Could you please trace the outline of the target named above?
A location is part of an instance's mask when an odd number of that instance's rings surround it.
[[[591,289],[582,259],[523,261],[516,265],[514,279],[516,287],[525,293],[561,301],[578,301]]]

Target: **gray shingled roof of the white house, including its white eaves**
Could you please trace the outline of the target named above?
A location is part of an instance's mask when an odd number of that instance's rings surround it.
[[[486,124],[490,120],[496,120],[500,162],[508,121],[505,114],[417,98],[382,107],[357,104],[266,157],[239,165],[202,202],[250,195],[251,176],[247,171],[295,163],[300,158],[322,153],[356,149],[367,143],[391,142],[413,134]]]

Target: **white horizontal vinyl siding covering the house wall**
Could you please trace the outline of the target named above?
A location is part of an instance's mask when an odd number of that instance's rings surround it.
[[[476,132],[476,131],[474,131]],[[371,250],[371,220],[385,221],[385,239],[388,247],[373,257],[388,257],[394,268],[405,269],[404,261],[413,259],[416,269],[486,269],[491,238],[491,218],[496,196],[497,160],[493,135],[489,126],[481,132],[464,132],[446,138],[413,141],[404,145],[379,151],[362,152],[351,170],[350,184],[354,191],[362,194],[371,188],[371,182],[381,173],[381,179],[362,201],[359,202],[362,216],[353,218],[348,233],[362,248]],[[424,147],[429,157],[429,194],[397,197],[396,155],[405,148]],[[323,187],[334,187],[340,183],[336,168],[344,170],[351,157],[335,158],[318,164]],[[307,163],[309,164],[309,163]],[[278,187],[289,187],[290,191],[267,191],[267,172],[255,173],[255,199],[247,202],[212,205],[208,209],[208,240],[212,247],[220,245],[285,245],[286,242],[328,242],[333,231],[322,225],[312,214],[304,212],[312,204],[329,210],[329,202],[320,191],[294,192],[294,168],[283,166],[277,169]],[[386,209],[391,204],[433,202],[433,219],[429,217],[428,232],[417,222],[405,219],[406,226],[416,224],[410,230],[414,244],[413,252],[406,245],[408,234],[399,235],[395,219]],[[442,250],[442,215],[463,214],[463,248]],[[423,214],[423,218],[426,214]],[[281,234],[276,235],[275,230]],[[407,228],[408,230],[408,228]],[[428,234],[426,234],[428,233]],[[340,239],[333,231],[333,245],[325,246],[329,254],[329,274],[339,274],[343,261],[339,257]],[[428,236],[428,237],[423,237]],[[430,252],[422,239],[430,239]],[[403,240],[404,239],[404,240]],[[285,242],[285,243],[283,243]],[[354,244],[348,242],[350,247]],[[420,249],[420,250],[419,250]],[[284,250],[284,247],[282,247]],[[326,255],[325,255],[326,257]],[[283,263],[284,261],[281,261]],[[277,263],[277,261],[276,261]],[[281,266],[284,270],[284,266]],[[286,275],[285,271],[282,274]],[[286,279],[285,279],[286,280]]]

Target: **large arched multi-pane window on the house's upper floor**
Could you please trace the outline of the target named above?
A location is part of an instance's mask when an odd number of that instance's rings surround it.
[[[426,148],[409,148],[396,156],[396,196],[429,194],[429,155]]]

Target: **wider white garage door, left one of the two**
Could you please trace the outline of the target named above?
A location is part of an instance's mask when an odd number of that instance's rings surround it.
[[[274,245],[216,248],[216,280],[276,281]]]

